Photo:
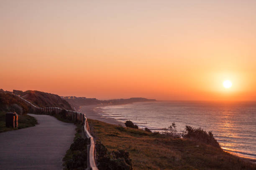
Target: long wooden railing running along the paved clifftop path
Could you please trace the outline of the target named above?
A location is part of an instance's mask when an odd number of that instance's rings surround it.
[[[16,96],[20,97],[19,95],[16,95]],[[62,110],[65,110],[65,109],[61,109],[59,107],[45,107],[45,108],[36,107],[28,100],[23,99],[22,97],[20,97],[20,98],[22,100],[24,100],[25,102],[27,102],[29,105],[31,105],[31,109],[33,110],[33,112],[43,112],[46,114],[50,114],[53,111],[55,111],[56,113],[59,113]],[[88,140],[87,143],[90,143],[87,145],[87,168],[86,168],[86,170],[98,170],[96,163],[95,163],[95,155],[94,155],[95,143],[94,143],[92,135],[90,134],[90,127],[87,122],[87,117],[85,116],[84,113],[81,113],[81,112],[76,112],[76,111],[72,111],[72,110],[65,110],[65,111],[67,112],[69,117],[71,117],[72,120],[82,121],[82,123],[84,124],[84,136]]]

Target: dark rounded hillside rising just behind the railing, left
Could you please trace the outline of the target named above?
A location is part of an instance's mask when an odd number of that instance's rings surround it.
[[[67,110],[74,110],[69,105],[69,103],[66,100],[62,99],[59,95],[47,92],[40,92],[36,90],[28,90],[25,92],[20,90],[13,90],[13,93],[15,95],[20,95],[21,97],[38,107],[60,107]]]

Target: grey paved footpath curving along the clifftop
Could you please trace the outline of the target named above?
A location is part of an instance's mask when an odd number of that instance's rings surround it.
[[[0,170],[61,170],[75,125],[49,115],[28,115],[39,124],[0,133]]]

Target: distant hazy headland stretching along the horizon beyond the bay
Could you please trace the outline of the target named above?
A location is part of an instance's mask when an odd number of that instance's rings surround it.
[[[132,97],[129,99],[112,99],[112,100],[98,100],[96,98],[75,97],[75,96],[67,96],[63,98],[75,108],[78,108],[79,106],[84,106],[84,105],[120,105],[120,104],[128,104],[133,102],[155,102],[156,101],[155,99],[146,99],[142,97]]]

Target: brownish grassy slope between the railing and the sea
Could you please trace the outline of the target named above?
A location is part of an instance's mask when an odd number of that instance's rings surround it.
[[[124,149],[130,153],[134,170],[256,169],[256,165],[210,145],[123,128],[98,120],[89,119],[89,123],[95,139],[100,140],[108,150]]]

